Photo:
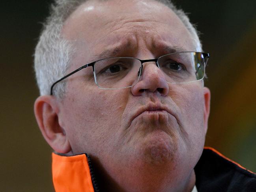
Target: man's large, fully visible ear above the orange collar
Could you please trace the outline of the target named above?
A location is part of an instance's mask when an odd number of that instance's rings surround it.
[[[43,95],[36,99],[34,112],[39,129],[47,143],[58,153],[68,153],[71,146],[59,123],[59,107],[56,97]]]

